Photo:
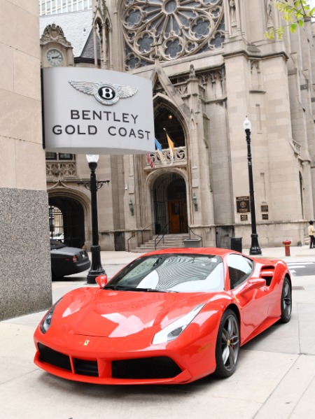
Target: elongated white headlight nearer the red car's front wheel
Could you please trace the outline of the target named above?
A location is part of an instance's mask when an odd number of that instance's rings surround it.
[[[203,306],[204,304],[198,304],[198,306],[195,306],[195,308],[193,308],[193,310],[188,314],[183,315],[183,317],[175,320],[170,325],[160,330],[160,332],[155,334],[153,338],[153,345],[174,341],[174,339],[178,338],[179,335],[186,329],[186,327],[194,320]]]

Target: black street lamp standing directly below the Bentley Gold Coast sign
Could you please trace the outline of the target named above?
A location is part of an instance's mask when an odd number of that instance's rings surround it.
[[[89,273],[87,274],[87,283],[94,284],[95,278],[99,275],[105,274],[105,270],[101,264],[101,247],[99,246],[99,223],[97,220],[97,189],[96,169],[99,155],[86,155],[87,162],[90,167],[90,191],[91,191],[91,213],[92,213],[92,264]]]

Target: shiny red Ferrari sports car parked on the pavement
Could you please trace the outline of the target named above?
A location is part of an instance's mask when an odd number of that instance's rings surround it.
[[[97,283],[45,314],[34,334],[38,367],[98,384],[224,378],[240,346],[291,316],[286,263],[232,250],[158,250]]]

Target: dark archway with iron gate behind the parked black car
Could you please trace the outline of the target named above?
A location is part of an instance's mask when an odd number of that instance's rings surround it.
[[[82,248],[85,243],[83,206],[69,197],[49,197],[50,237],[59,237],[67,246]]]

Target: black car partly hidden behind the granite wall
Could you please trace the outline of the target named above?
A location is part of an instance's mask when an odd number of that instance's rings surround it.
[[[79,248],[69,248],[61,241],[50,239],[52,279],[78,274],[90,268],[87,252]]]

